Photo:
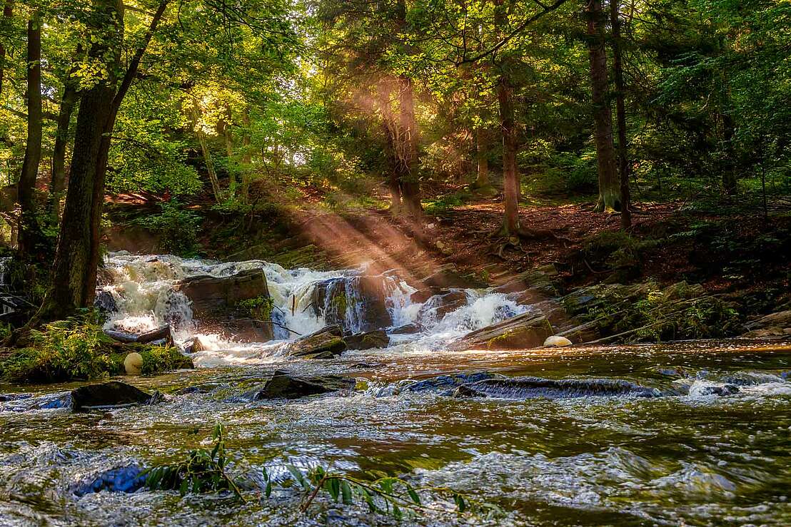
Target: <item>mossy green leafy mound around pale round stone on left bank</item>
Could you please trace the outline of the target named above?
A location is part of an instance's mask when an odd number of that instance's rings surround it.
[[[179,349],[152,344],[123,344],[85,318],[52,322],[34,330],[28,346],[0,362],[0,376],[11,382],[67,382],[123,375],[123,359],[138,352],[142,373],[192,367]]]

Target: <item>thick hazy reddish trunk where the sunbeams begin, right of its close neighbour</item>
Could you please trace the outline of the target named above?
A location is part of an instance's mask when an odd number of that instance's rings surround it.
[[[423,213],[418,179],[418,124],[414,119],[412,79],[399,77],[399,126],[395,149],[398,154],[398,179],[404,208],[414,219]]]

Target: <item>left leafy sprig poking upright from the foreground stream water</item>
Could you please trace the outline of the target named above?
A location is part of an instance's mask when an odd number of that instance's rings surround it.
[[[146,487],[153,491],[179,491],[187,493],[230,491],[244,501],[237,483],[225,472],[228,457],[225,454],[225,427],[214,426],[212,450],[195,449],[187,453],[187,459],[172,465],[157,465],[144,472]]]

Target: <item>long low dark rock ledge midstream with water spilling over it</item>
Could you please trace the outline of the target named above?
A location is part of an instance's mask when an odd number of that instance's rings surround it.
[[[554,380],[540,377],[487,379],[464,384],[455,397],[504,399],[565,399],[572,397],[660,397],[659,390],[623,380],[585,378]]]

